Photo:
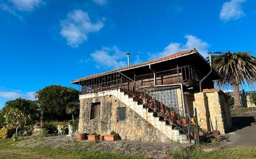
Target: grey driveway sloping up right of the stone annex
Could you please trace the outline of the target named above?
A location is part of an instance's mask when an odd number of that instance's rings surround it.
[[[256,111],[242,113],[232,118],[233,129],[226,134],[228,140],[220,142],[221,148],[256,146]]]

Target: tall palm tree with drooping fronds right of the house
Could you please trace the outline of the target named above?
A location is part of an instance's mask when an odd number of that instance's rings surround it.
[[[222,75],[223,79],[217,84],[224,86],[231,84],[234,90],[234,109],[242,106],[239,85],[251,85],[256,80],[256,58],[250,52],[227,53],[216,52],[212,56],[212,66]]]

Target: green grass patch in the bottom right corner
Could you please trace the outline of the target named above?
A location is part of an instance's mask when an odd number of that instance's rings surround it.
[[[190,153],[185,153],[183,150],[175,150],[173,152],[174,159],[249,159],[256,158],[256,148],[254,147],[239,147],[239,148],[226,148],[213,152],[204,152],[201,149],[194,150]]]

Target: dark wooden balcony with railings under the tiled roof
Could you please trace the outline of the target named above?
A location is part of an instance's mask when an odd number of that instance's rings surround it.
[[[176,67],[175,69],[152,72],[150,74],[134,75],[134,79],[129,78],[132,75],[127,76],[114,72],[81,81],[81,93],[102,92],[116,88],[139,91],[142,87],[169,84],[183,84],[185,87],[195,89],[199,86],[199,79],[203,77],[201,72],[193,66]]]

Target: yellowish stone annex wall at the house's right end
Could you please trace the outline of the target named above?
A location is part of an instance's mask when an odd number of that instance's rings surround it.
[[[232,126],[228,100],[227,95],[218,89],[194,93],[193,106],[198,111],[199,126],[207,131],[212,128],[225,134]]]

